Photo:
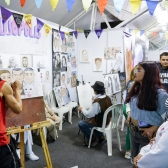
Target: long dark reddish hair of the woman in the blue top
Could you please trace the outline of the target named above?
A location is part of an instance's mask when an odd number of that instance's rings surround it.
[[[130,102],[131,98],[137,96],[139,109],[156,111],[158,105],[157,90],[163,88],[159,77],[159,69],[154,62],[140,62],[138,65],[145,70],[142,85],[139,82],[134,82],[126,102]]]

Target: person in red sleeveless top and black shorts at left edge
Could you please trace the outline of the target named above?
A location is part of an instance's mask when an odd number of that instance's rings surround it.
[[[22,101],[20,97],[21,84],[15,81],[12,87],[5,81],[0,79],[0,167],[1,168],[20,168],[20,161],[16,151],[9,145],[6,135],[6,107],[16,114],[22,111]]]

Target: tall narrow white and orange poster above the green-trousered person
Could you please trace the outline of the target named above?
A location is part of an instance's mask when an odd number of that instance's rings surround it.
[[[132,38],[131,35],[124,33],[124,47],[125,47],[125,72],[126,72],[126,82],[130,79],[131,70],[133,68],[133,58],[132,58]]]

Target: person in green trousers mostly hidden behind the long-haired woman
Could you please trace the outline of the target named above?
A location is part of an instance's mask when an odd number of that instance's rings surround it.
[[[127,119],[129,121],[129,117],[130,117],[130,105],[129,105],[129,103],[126,104],[126,99],[128,97],[129,91],[130,91],[130,89],[131,89],[133,84],[134,84],[134,69],[132,69],[131,74],[130,74],[130,80],[126,84],[126,98],[125,98],[125,103],[124,103],[124,106],[123,106],[123,114],[125,116],[126,123],[127,123]],[[124,157],[126,159],[131,159],[130,129],[129,129],[129,126],[127,126],[127,132],[126,132],[126,153],[125,153]]]

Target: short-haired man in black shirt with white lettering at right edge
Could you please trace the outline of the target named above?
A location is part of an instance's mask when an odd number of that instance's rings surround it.
[[[160,71],[161,82],[168,92],[168,52],[160,55],[160,62],[156,63]]]

